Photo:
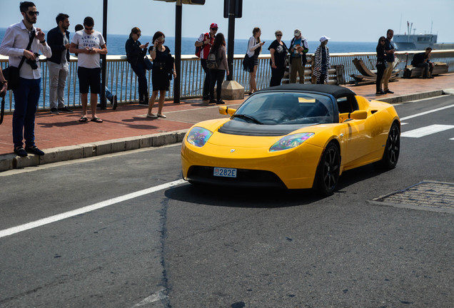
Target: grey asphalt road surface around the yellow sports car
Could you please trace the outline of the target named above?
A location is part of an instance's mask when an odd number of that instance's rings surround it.
[[[454,183],[449,106],[395,106],[445,130],[331,197],[194,188],[179,145],[0,173],[0,307],[453,307],[454,215],[370,202]]]

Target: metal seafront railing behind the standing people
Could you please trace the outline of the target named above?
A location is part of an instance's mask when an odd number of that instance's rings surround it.
[[[408,51],[398,53],[398,64],[396,68],[401,70],[402,76],[405,64],[410,64],[413,55],[420,51]],[[308,63],[306,64],[305,82],[311,82],[311,66],[313,54],[308,54]],[[353,65],[353,59],[362,59],[368,68],[375,68],[375,53],[332,53],[331,66],[343,66],[343,80],[345,83],[353,81],[350,77],[353,73],[358,73]],[[258,56],[258,71],[256,75],[257,88],[266,88],[271,78],[271,68],[269,65],[270,55]],[[448,63],[449,72],[454,71],[454,50],[432,51],[431,61],[440,61]],[[8,63],[8,57],[0,56],[0,66],[5,68]],[[243,55],[235,55],[233,59],[233,80],[237,81],[244,87],[245,93],[249,92],[249,73],[243,71]],[[138,83],[136,74],[133,73],[131,66],[126,61],[126,56],[107,56],[107,76],[106,86],[111,93],[117,95],[118,102],[137,102],[138,101]],[[47,68],[46,58],[41,56],[41,99],[39,109],[49,109],[49,71]],[[205,73],[200,64],[200,59],[196,56],[181,56],[181,98],[197,98],[202,96],[203,78]],[[284,79],[288,76],[284,76]],[[336,78],[336,75],[330,76]],[[151,89],[151,71],[147,71],[148,89]],[[6,94],[6,112],[13,110],[12,92]],[[173,98],[173,82],[166,98]],[[77,58],[71,56],[69,65],[69,76],[66,81],[65,91],[66,105],[70,107],[81,106],[79,96],[79,78],[77,78]]]

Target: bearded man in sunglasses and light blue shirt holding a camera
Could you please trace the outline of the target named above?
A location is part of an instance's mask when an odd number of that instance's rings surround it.
[[[34,27],[39,15],[34,3],[21,2],[19,9],[24,19],[6,30],[0,45],[0,54],[9,56],[9,66],[19,67],[23,62],[19,70],[19,85],[13,90],[14,153],[21,157],[27,153],[44,155],[35,145],[35,113],[41,95],[39,53],[50,58],[52,51],[46,44],[46,34]],[[27,50],[29,42],[31,45]]]

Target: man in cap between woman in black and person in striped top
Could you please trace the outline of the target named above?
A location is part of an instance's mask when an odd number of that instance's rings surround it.
[[[304,66],[306,66],[306,53],[309,51],[308,41],[301,35],[300,29],[293,31],[290,42],[290,83],[296,83],[296,74],[300,76],[300,83],[304,83]]]

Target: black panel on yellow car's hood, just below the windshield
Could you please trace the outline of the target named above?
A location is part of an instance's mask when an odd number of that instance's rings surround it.
[[[299,128],[313,124],[292,124],[292,125],[260,125],[255,123],[246,123],[242,120],[229,120],[219,128],[219,133],[229,135],[250,135],[250,136],[280,136],[288,135]]]

